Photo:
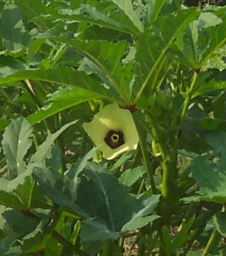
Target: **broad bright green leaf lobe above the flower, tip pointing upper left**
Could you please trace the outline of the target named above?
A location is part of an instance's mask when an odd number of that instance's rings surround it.
[[[127,46],[126,41],[114,44],[106,40],[84,42],[59,38],[59,42],[64,42],[89,59],[93,64],[91,66],[88,63],[91,71],[99,74],[103,82],[112,88],[111,91],[115,90],[115,94],[118,93],[125,102],[128,101],[129,83],[133,74],[131,64],[125,64],[124,66],[121,64]]]

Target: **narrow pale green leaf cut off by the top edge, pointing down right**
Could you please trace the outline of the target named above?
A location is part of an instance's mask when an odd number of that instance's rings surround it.
[[[111,0],[113,3],[116,4],[124,13],[125,15],[130,18],[133,25],[137,28],[139,32],[144,31],[144,26],[142,25],[142,22],[139,20],[137,13],[133,10],[132,1],[128,0]]]

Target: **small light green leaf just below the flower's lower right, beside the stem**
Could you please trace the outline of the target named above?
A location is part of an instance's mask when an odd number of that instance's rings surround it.
[[[138,166],[133,169],[127,169],[123,173],[121,173],[118,181],[128,187],[132,187],[132,185],[137,182],[145,173],[144,166]]]

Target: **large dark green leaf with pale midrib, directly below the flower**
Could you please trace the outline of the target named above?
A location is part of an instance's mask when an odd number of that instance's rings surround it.
[[[153,216],[142,219],[154,211],[159,202],[159,195],[144,195],[137,199],[135,195],[128,194],[128,188],[118,183],[115,175],[94,163],[88,163],[81,173],[77,193],[77,204],[94,218],[93,221],[101,226],[105,223],[107,230],[113,234],[124,232],[121,228],[126,223],[125,228],[130,230],[136,223],[147,224],[155,217],[158,218]]]

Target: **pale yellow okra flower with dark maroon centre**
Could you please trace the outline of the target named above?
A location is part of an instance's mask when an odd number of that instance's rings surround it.
[[[83,124],[84,130],[99,147],[103,158],[111,160],[121,153],[137,148],[138,134],[132,113],[116,103],[107,105]]]

